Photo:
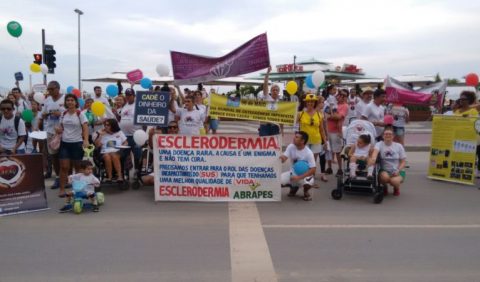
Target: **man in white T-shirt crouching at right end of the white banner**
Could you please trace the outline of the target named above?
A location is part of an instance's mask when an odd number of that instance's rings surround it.
[[[296,175],[293,170],[282,173],[282,185],[290,185],[289,197],[294,197],[299,189],[299,186],[303,186],[303,199],[305,201],[311,201],[312,195],[309,190],[312,188],[315,182],[315,158],[312,151],[306,146],[308,142],[308,134],[304,131],[295,132],[293,137],[293,143],[287,146],[285,152],[280,156],[280,160],[284,163],[290,159],[292,165],[298,161],[305,161],[308,163],[308,170],[301,174]]]

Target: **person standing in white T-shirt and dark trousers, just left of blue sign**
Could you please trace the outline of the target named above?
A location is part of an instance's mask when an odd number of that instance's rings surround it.
[[[141,129],[140,126],[134,124],[135,90],[133,90],[133,88],[127,88],[125,90],[125,100],[127,100],[127,103],[122,108],[122,112],[120,113],[120,123],[118,125],[127,137],[128,146],[133,150],[133,158],[136,168],[140,161],[142,148],[135,143],[135,140],[133,140],[133,134],[135,131]],[[129,154],[130,151],[126,150],[126,153]]]

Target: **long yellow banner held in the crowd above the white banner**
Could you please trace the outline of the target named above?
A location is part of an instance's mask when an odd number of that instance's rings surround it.
[[[209,115],[294,125],[296,102],[267,102],[211,94]]]

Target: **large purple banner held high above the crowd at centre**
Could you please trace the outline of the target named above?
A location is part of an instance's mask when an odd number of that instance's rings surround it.
[[[237,76],[270,66],[267,34],[254,37],[219,58],[171,51],[173,77],[178,84],[196,84]]]

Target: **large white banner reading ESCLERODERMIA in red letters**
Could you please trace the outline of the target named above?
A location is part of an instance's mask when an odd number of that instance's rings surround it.
[[[280,201],[281,138],[155,135],[156,201]]]

